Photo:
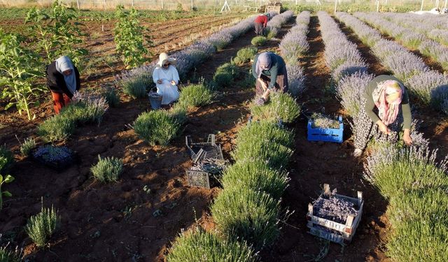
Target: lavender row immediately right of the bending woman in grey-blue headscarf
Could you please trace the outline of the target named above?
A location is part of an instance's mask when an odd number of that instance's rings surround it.
[[[309,11],[303,11],[295,19],[296,25],[283,36],[279,48],[286,61],[288,71],[288,88],[290,94],[297,97],[305,90],[305,76],[302,66],[297,59],[309,50],[307,41]]]

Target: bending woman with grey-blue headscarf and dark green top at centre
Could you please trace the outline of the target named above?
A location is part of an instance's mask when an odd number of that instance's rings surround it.
[[[273,89],[288,92],[288,74],[283,58],[272,52],[262,52],[255,56],[252,64],[252,74],[257,80],[255,95],[261,96],[262,102],[269,98]]]

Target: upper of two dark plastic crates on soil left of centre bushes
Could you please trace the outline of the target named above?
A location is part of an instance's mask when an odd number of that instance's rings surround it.
[[[185,140],[193,163],[198,163],[205,159],[224,160],[223,150],[221,145],[216,144],[214,134],[209,134],[207,142],[193,143],[190,136],[186,136]]]

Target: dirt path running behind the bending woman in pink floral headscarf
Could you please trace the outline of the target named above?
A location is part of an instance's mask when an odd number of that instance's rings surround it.
[[[333,17],[334,18],[334,17]],[[370,48],[364,45],[358,36],[351,31],[344,23],[335,19],[342,29],[344,34],[349,38],[349,40],[358,45],[358,50],[362,54],[363,58],[366,59],[367,64],[369,64],[369,72],[374,73],[374,75],[381,74],[392,74],[384,66],[381,65],[377,57],[374,56]],[[393,41],[393,39],[392,39]],[[411,102],[417,104],[416,99],[411,98]],[[447,115],[442,112],[433,110],[432,108],[417,108],[412,111],[412,117],[419,119],[420,130],[425,134],[425,138],[430,140],[430,147],[433,149],[438,149],[437,158],[442,160],[448,154],[448,119]]]

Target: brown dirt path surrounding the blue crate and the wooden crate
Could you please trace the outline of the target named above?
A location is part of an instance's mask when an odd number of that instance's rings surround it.
[[[341,112],[342,108],[334,94],[325,91],[325,87],[330,84],[330,72],[325,66],[325,46],[316,16],[311,17],[308,41],[311,46],[309,55],[301,59],[307,75],[308,91],[299,101],[311,112],[321,110],[322,107],[328,114]],[[341,145],[311,143],[307,141],[306,126],[307,119],[303,118],[295,126],[296,150],[290,169],[291,180],[283,196],[283,205],[294,213],[286,221],[287,224],[283,224],[278,243],[272,250],[263,253],[264,260],[314,261],[322,254],[322,261],[384,260],[380,243],[386,233],[387,222],[383,216],[386,201],[370,184],[363,181],[362,162],[351,157],[352,141],[346,140]],[[308,203],[317,198],[324,183],[347,196],[356,196],[356,191],[363,191],[363,219],[352,243],[344,249],[333,243],[325,244],[307,233]]]

